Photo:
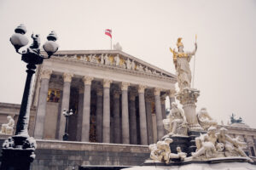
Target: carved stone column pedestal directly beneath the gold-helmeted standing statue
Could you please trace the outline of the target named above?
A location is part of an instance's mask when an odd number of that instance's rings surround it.
[[[177,99],[180,104],[183,105],[183,111],[186,116],[189,131],[202,131],[203,128],[199,125],[196,117],[196,105],[197,98],[200,91],[195,88],[184,88],[177,94]]]

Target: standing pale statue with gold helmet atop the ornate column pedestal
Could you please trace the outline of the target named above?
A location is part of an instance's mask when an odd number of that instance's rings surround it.
[[[195,42],[195,50],[193,52],[183,51],[182,38],[177,38],[177,52],[175,49],[170,48],[173,54],[173,63],[177,71],[177,83],[178,88],[182,91],[184,88],[190,88],[191,85],[191,71],[189,68],[189,61],[193,55],[195,55],[197,49],[197,43]]]

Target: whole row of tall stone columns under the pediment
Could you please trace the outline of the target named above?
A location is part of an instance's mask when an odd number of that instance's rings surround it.
[[[38,111],[36,118],[36,126],[34,131],[34,137],[36,139],[43,139],[44,135],[44,119],[47,103],[47,95],[49,88],[49,77],[52,72],[45,70],[41,74],[41,88],[38,99]],[[61,112],[64,109],[69,109],[69,98],[70,98],[70,87],[73,74],[63,74],[63,94],[61,100]],[[78,133],[77,139],[88,142],[90,139],[90,88],[92,77],[84,77],[84,96],[83,91],[79,92],[79,119],[78,119]],[[111,80],[103,80],[103,89],[96,93],[96,139],[99,142],[110,143],[110,84]],[[128,103],[128,82],[121,83],[121,101],[119,104],[119,94],[116,93],[113,96],[114,101],[114,143],[120,143],[120,139],[123,144],[137,144],[137,128],[140,129],[141,144],[153,144],[153,123],[151,113],[151,102],[145,100],[145,88],[144,85],[138,86],[138,100],[139,100],[139,124],[137,127],[136,123],[136,107],[135,107],[135,95],[130,95],[130,104]],[[164,127],[162,119],[165,118],[165,107],[161,104],[160,99],[160,88],[154,88],[154,101],[155,101],[155,112],[157,120],[157,139],[164,136]],[[83,106],[81,105],[83,104]],[[121,111],[121,123],[119,118],[119,105],[122,105]],[[130,106],[130,111],[128,108]],[[62,139],[65,129],[65,117],[60,116],[60,127],[58,132],[58,139]],[[130,120],[130,124],[129,124]],[[121,124],[121,127],[120,127]],[[131,127],[130,127],[131,126]],[[121,128],[121,133],[120,133]],[[129,132],[131,130],[131,132]],[[131,135],[130,137],[130,133]],[[121,135],[121,137],[120,137]],[[117,138],[116,138],[117,137]]]

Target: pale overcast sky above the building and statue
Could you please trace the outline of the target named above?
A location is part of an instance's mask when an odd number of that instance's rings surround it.
[[[42,44],[56,31],[60,50],[109,49],[110,28],[125,53],[172,73],[169,47],[183,37],[184,50],[193,50],[197,34],[197,110],[224,123],[235,113],[256,127],[255,0],[1,0],[0,23],[0,102],[21,102],[26,64],[9,42],[20,23]]]

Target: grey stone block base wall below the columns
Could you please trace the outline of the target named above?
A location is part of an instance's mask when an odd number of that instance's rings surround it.
[[[2,147],[3,139],[0,139]],[[148,146],[37,140],[32,170],[79,169],[79,166],[137,166],[149,157]]]

